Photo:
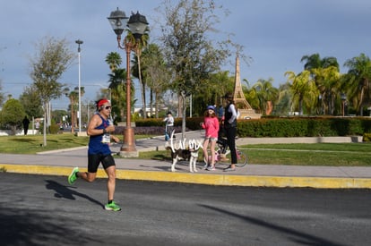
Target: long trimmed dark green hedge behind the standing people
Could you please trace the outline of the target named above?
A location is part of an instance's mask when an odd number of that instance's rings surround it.
[[[200,130],[203,117],[186,118],[186,128]],[[162,119],[137,120],[136,126],[165,126]],[[182,119],[176,118],[175,125],[181,126]],[[371,132],[371,118],[368,117],[275,117],[237,121],[237,135],[241,138],[262,137],[330,137],[354,136]]]

